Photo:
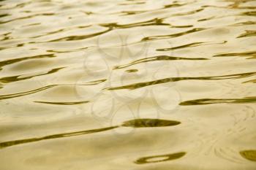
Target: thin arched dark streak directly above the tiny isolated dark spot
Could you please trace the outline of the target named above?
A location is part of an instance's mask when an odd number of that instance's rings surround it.
[[[208,60],[208,58],[181,58],[181,57],[173,57],[169,55],[158,55],[158,56],[149,57],[149,58],[142,58],[121,66],[115,66],[113,69],[123,69],[125,67],[132,66],[138,63],[146,63],[151,61],[173,61],[173,60]]]

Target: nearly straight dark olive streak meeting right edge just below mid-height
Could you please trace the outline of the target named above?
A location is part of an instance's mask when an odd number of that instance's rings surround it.
[[[246,104],[246,103],[256,103],[256,97],[246,97],[246,98],[202,98],[191,101],[183,101],[179,105],[200,105],[200,104]]]

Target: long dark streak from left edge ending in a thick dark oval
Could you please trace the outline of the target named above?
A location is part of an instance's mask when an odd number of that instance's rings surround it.
[[[53,134],[53,135],[43,136],[43,137],[39,137],[39,138],[19,139],[19,140],[14,140],[14,141],[1,142],[0,149],[2,149],[4,147],[11,147],[11,146],[17,145],[17,144],[39,142],[39,141],[48,140],[48,139],[80,136],[80,135],[84,135],[84,134],[94,134],[97,132],[109,131],[114,128],[118,128],[120,126],[132,127],[132,128],[154,128],[154,127],[165,127],[165,126],[172,126],[172,125],[178,125],[178,124],[180,124],[180,122],[174,121],[174,120],[135,119],[135,120],[128,120],[128,121],[122,123],[121,125],[111,126],[111,127],[107,127],[107,128],[97,128],[97,129],[86,130],[86,131],[75,131],[75,132],[69,132],[69,133],[64,133],[64,134]]]

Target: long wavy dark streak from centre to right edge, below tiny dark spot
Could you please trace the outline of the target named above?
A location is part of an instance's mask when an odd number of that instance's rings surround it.
[[[149,85],[157,85],[167,82],[177,82],[181,80],[228,80],[228,79],[241,79],[244,77],[250,77],[255,75],[256,72],[242,73],[242,74],[229,74],[224,76],[213,76],[213,77],[170,77],[165,79],[154,80],[150,82],[138,82],[131,85],[123,85],[114,88],[105,88],[106,90],[135,90],[137,88],[144,88]]]

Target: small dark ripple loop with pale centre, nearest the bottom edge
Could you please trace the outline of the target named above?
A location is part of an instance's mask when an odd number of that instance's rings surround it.
[[[135,163],[144,164],[144,163],[157,163],[157,162],[163,162],[163,161],[171,161],[171,160],[181,158],[184,155],[186,155],[186,152],[176,152],[176,153],[171,153],[166,155],[148,156],[148,157],[139,158],[137,161],[135,161]],[[154,161],[154,158],[157,158],[157,160]],[[158,160],[158,158],[162,158],[162,159]],[[153,160],[150,161],[151,159]]]

